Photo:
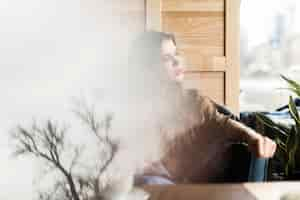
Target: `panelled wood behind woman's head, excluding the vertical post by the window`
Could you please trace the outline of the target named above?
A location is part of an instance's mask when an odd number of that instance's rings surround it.
[[[184,87],[225,104],[224,0],[162,0],[162,29],[185,57]]]

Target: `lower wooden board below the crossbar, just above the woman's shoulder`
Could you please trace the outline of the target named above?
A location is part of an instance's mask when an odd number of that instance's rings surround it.
[[[186,73],[183,87],[196,89],[220,104],[225,103],[224,72]]]

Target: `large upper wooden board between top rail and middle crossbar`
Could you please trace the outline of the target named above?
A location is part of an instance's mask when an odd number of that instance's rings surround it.
[[[224,55],[224,16],[200,13],[163,13],[163,30],[176,36],[180,50],[201,55]]]

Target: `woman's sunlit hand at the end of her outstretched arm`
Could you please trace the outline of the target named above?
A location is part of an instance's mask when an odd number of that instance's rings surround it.
[[[249,150],[259,158],[271,158],[276,151],[276,143],[258,133],[252,135],[251,139],[248,140],[248,145]]]

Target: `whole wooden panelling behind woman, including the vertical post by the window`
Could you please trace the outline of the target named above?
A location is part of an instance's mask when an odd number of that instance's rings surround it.
[[[154,1],[162,31],[175,34],[186,58],[185,85],[238,113],[240,0]]]

